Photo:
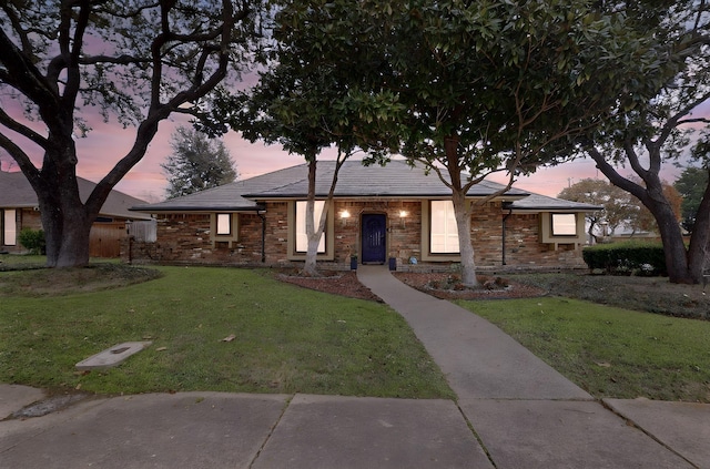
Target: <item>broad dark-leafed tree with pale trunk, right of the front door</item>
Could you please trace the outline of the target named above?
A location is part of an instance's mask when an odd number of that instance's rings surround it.
[[[383,142],[452,188],[468,285],[468,190],[494,172],[508,172],[510,185],[564,160],[561,143],[617,103],[632,106],[662,69],[658,43],[586,0],[284,1],[280,14],[283,30],[311,38],[304,63],[358,61],[349,100],[333,110],[385,123],[361,141]]]

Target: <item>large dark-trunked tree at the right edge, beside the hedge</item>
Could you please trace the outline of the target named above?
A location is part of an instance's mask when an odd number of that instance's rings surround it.
[[[661,173],[683,155],[692,133],[710,124],[697,112],[710,102],[710,11],[706,2],[694,0],[621,2],[608,8],[623,9],[629,28],[652,31],[668,44],[658,58],[668,77],[660,83],[647,82],[656,86],[650,98],[633,106],[619,105],[581,144],[607,179],[641,201],[656,218],[670,282],[698,283],[710,258],[710,186],[703,187],[686,245]],[[697,146],[702,157],[703,141]],[[633,176],[625,175],[629,169]]]

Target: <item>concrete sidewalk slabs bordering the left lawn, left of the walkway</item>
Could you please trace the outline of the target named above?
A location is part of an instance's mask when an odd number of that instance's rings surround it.
[[[3,408],[37,390],[0,385]],[[4,417],[4,416],[3,416]],[[0,421],[0,468],[493,469],[450,400],[179,392]]]

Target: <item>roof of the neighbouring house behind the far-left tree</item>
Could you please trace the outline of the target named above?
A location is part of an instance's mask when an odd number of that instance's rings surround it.
[[[95,183],[77,177],[79,185],[79,194],[82,202],[85,202],[91,191],[97,186]],[[129,208],[144,204],[145,201],[132,197],[119,191],[111,191],[106,201],[101,207],[102,216],[119,216],[123,218],[149,220],[148,216],[130,212]],[[7,208],[32,208],[38,206],[37,194],[30,185],[30,182],[21,172],[4,173],[0,172],[0,207]]]

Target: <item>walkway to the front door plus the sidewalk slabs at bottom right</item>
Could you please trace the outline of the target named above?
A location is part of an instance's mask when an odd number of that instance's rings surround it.
[[[605,407],[470,312],[379,266],[357,276],[412,326],[497,468],[710,468],[710,406]]]

